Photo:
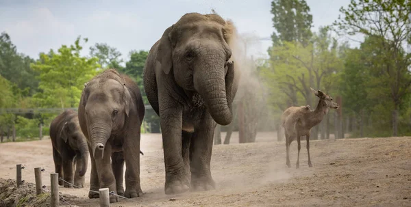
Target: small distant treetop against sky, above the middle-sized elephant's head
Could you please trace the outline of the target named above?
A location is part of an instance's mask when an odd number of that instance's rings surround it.
[[[120,65],[123,62],[121,53],[106,43],[96,43],[94,46],[90,46],[90,56],[97,57],[98,63],[103,69],[116,68],[120,70],[122,68]]]

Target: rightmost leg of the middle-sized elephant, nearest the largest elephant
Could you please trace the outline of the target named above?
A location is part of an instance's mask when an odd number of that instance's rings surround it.
[[[125,158],[125,197],[141,197],[140,186],[140,127],[134,127],[123,143]]]

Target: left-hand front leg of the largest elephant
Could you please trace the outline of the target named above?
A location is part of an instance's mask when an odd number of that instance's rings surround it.
[[[163,94],[166,94],[164,92]],[[159,93],[160,127],[162,130],[164,164],[166,169],[166,194],[184,193],[190,182],[182,157],[182,107],[178,102]]]

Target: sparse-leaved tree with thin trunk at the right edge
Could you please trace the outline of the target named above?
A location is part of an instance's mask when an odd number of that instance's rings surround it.
[[[406,104],[411,86],[411,53],[403,48],[403,44],[411,44],[411,1],[352,0],[340,12],[343,17],[334,22],[336,31],[373,38],[378,49],[373,64],[377,66],[379,83],[388,86],[385,95],[393,102],[393,136],[397,136],[399,109]]]

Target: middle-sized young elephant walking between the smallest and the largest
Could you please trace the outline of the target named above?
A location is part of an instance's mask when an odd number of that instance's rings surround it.
[[[125,74],[110,69],[84,86],[79,123],[88,139],[91,158],[88,197],[99,197],[99,193],[92,191],[106,187],[125,197],[141,196],[140,126],[145,107],[138,85]],[[118,196],[110,195],[110,202],[118,201]]]

